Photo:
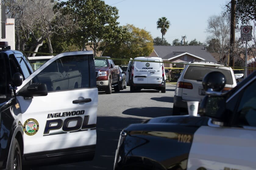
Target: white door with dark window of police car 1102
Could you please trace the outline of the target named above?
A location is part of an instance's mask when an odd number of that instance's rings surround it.
[[[226,108],[233,113],[233,127],[219,127],[209,122],[209,126],[195,132],[187,169],[256,169],[255,79],[226,102]]]

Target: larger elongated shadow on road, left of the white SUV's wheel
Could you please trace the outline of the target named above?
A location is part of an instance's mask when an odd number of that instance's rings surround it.
[[[170,107],[138,107],[138,108],[127,109],[123,111],[123,114],[141,116],[141,117],[171,116],[172,108]]]

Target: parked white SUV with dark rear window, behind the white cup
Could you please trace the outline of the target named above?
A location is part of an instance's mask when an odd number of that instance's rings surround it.
[[[184,68],[176,84],[173,115],[180,115],[183,110],[187,110],[187,101],[201,102],[205,95],[202,80],[207,73],[212,71],[220,71],[225,75],[227,82],[223,90],[231,90],[236,87],[236,79],[231,67],[204,60],[190,62]]]

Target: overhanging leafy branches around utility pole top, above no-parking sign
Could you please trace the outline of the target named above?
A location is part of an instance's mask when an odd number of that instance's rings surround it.
[[[255,0],[236,0],[235,1],[235,16],[236,23],[239,24],[239,20],[242,24],[247,24],[251,20],[256,21],[256,1]],[[225,14],[230,14],[231,2],[226,5]]]

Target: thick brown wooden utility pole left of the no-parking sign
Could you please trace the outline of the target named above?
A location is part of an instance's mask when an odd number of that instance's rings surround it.
[[[235,66],[235,55],[233,54],[234,50],[234,42],[235,42],[235,26],[236,26],[236,20],[235,20],[235,9],[236,9],[236,4],[235,0],[231,0],[231,20],[230,20],[230,48],[229,48],[229,57],[232,59],[232,66],[234,69]],[[231,65],[231,63],[230,63]]]

